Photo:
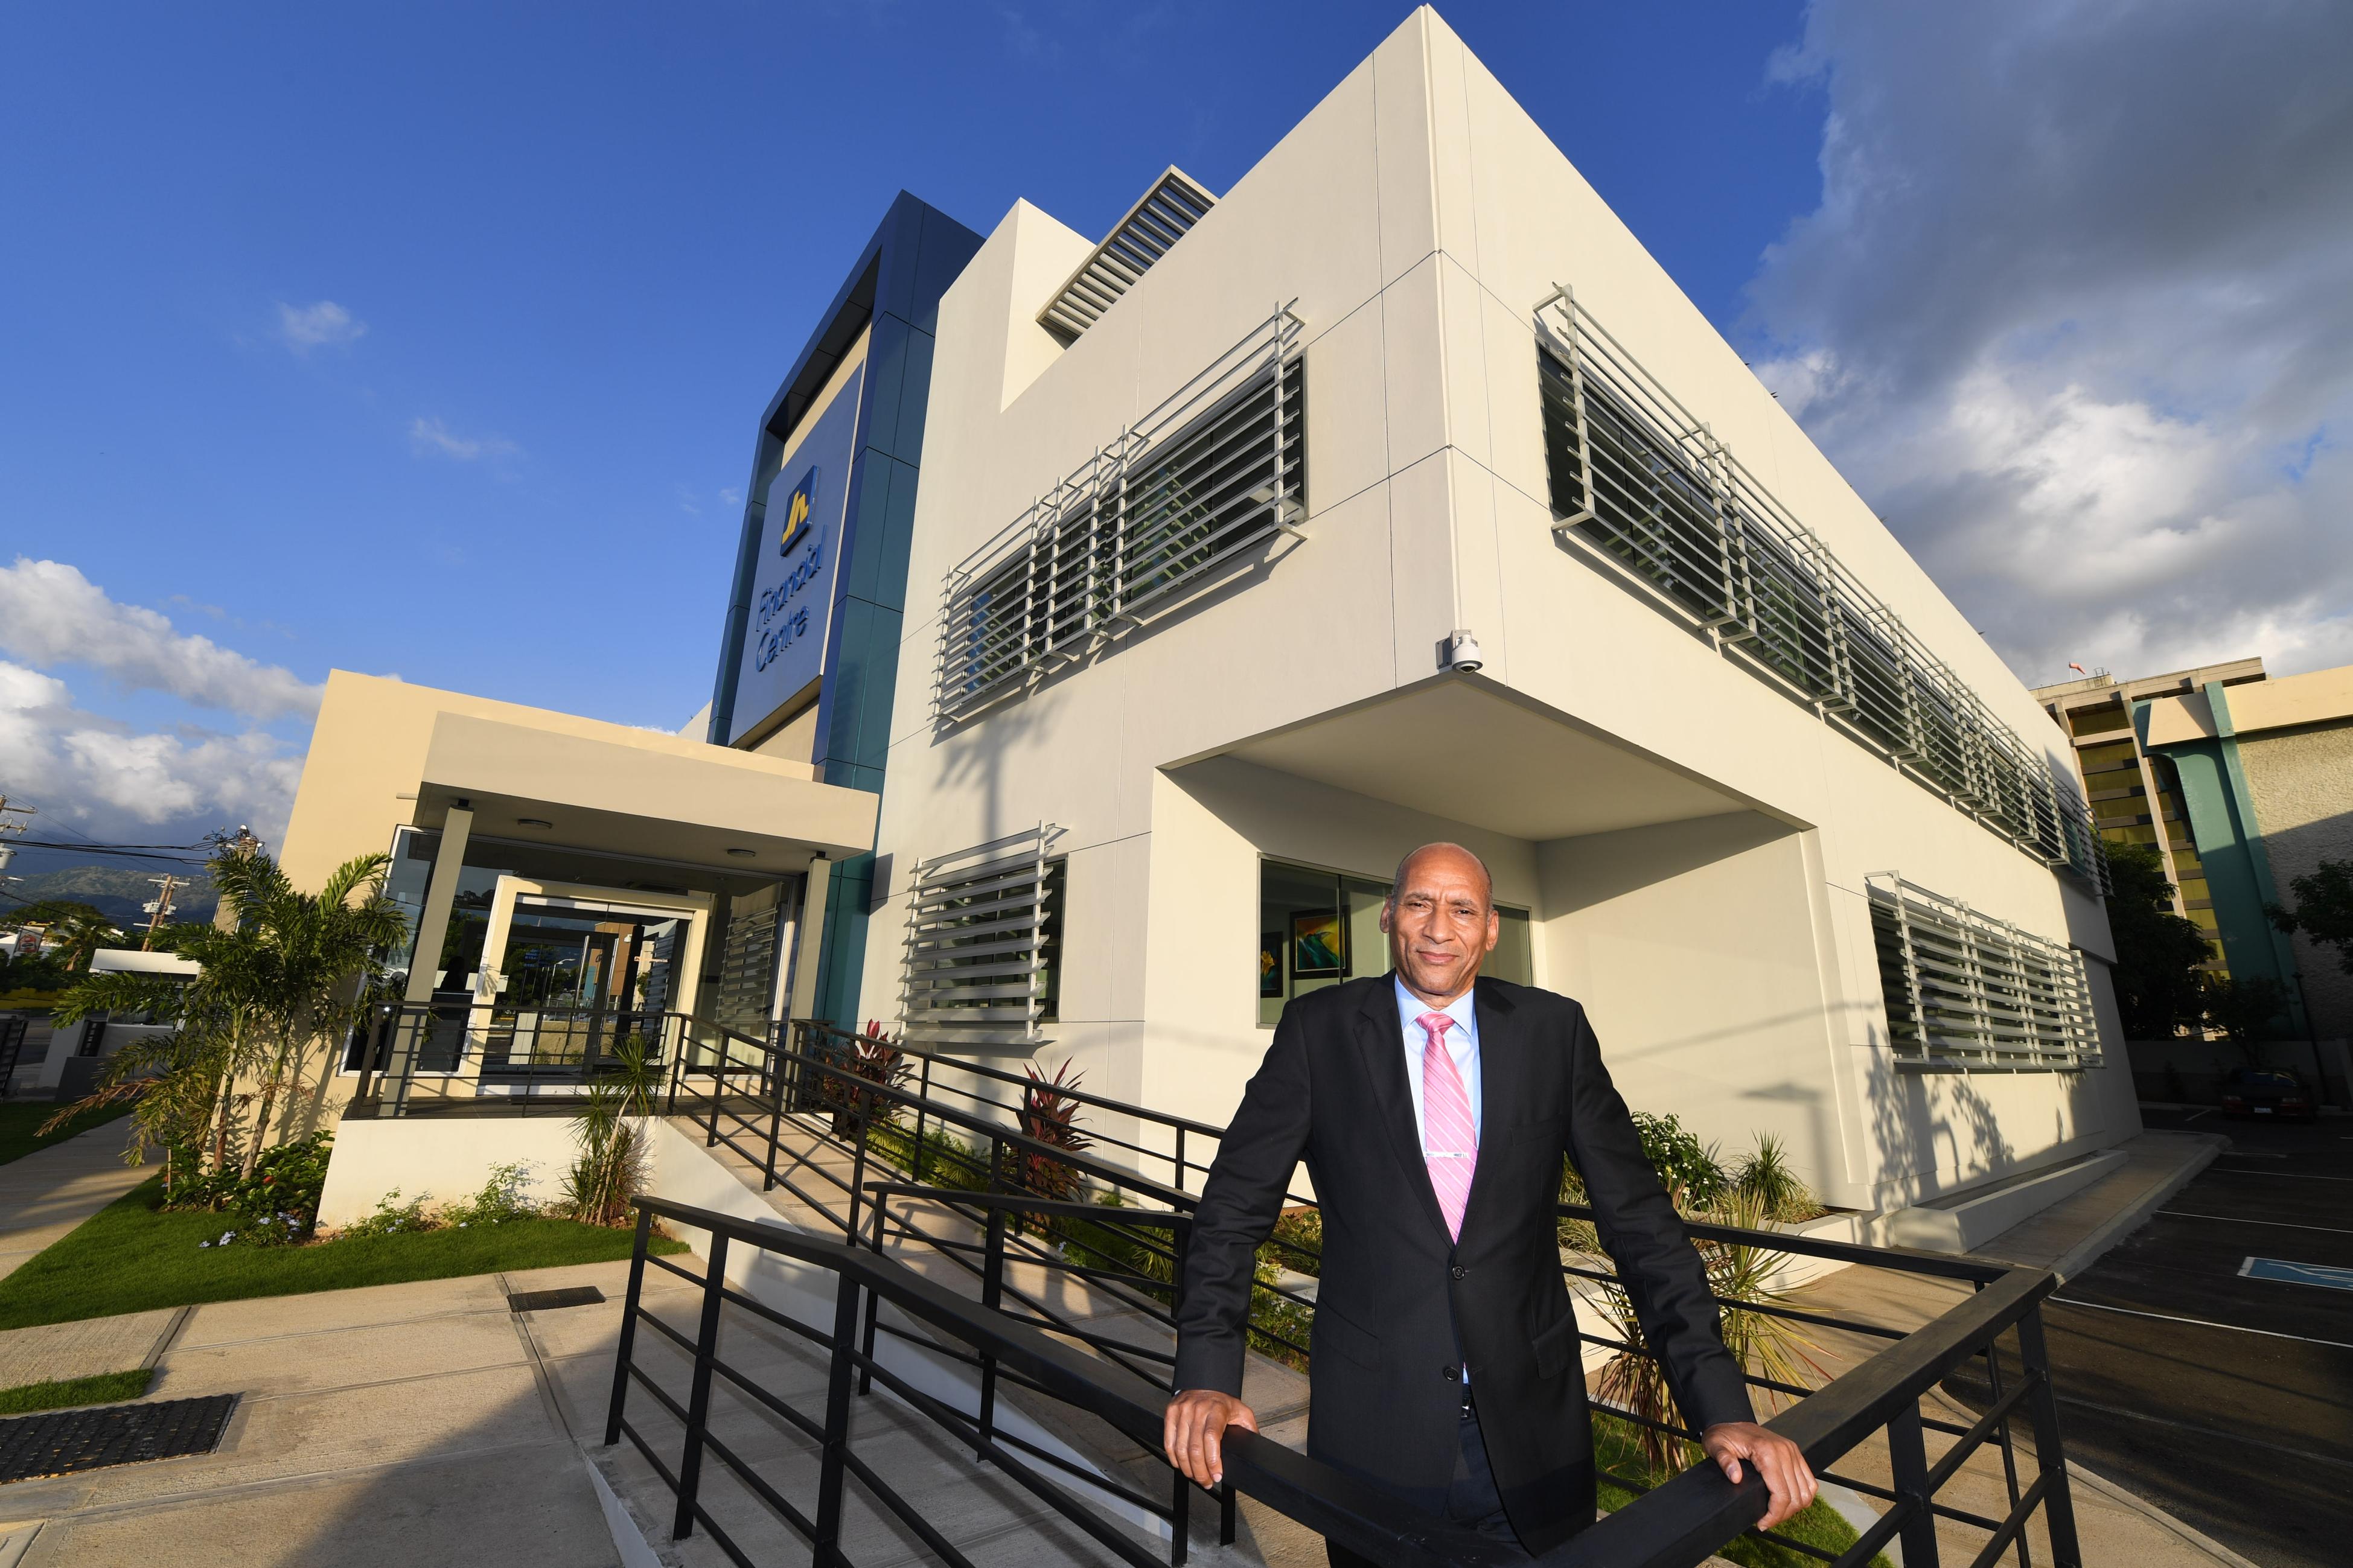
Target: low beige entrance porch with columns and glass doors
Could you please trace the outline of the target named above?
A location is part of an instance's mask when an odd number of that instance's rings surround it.
[[[409,923],[376,1022],[289,1118],[400,1099],[576,1092],[671,1019],[765,1034],[807,1001],[824,873],[875,796],[805,760],[334,671],[280,857],[318,888],[388,855]],[[814,876],[812,876],[814,871]]]

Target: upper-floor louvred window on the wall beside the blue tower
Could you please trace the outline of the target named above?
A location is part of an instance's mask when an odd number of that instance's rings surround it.
[[[1299,534],[1301,344],[1278,311],[948,574],[941,720],[1026,692]]]

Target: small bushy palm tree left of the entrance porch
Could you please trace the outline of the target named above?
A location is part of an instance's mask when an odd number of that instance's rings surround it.
[[[388,855],[360,855],[318,892],[296,892],[268,855],[224,848],[212,859],[212,885],[228,923],[188,928],[179,942],[200,975],[92,975],[61,998],[59,1022],[146,1010],[176,1024],[167,1041],[108,1062],[89,1097],[139,1099],[134,1163],[148,1142],[188,1147],[209,1128],[212,1163],[224,1168],[231,1118],[252,1097],[235,1085],[247,1078],[259,1081],[261,1099],[242,1154],[242,1172],[252,1175],[287,1081],[301,1076],[313,1050],[332,1050],[351,1034],[384,977],[384,956],[407,935],[384,897],[388,866]]]

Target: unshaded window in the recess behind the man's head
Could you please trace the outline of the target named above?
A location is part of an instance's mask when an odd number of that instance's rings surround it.
[[[1259,1024],[1273,1029],[1282,1003],[1360,975],[1388,972],[1381,904],[1388,881],[1322,871],[1285,859],[1259,862]],[[1527,911],[1497,904],[1501,932],[1482,975],[1537,984]]]

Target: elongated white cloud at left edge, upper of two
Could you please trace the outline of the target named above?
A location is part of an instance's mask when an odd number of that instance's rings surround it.
[[[325,695],[280,664],[174,631],[158,610],[115,603],[61,560],[19,556],[0,570],[0,652],[35,666],[82,664],[129,690],[247,718],[311,716]]]

